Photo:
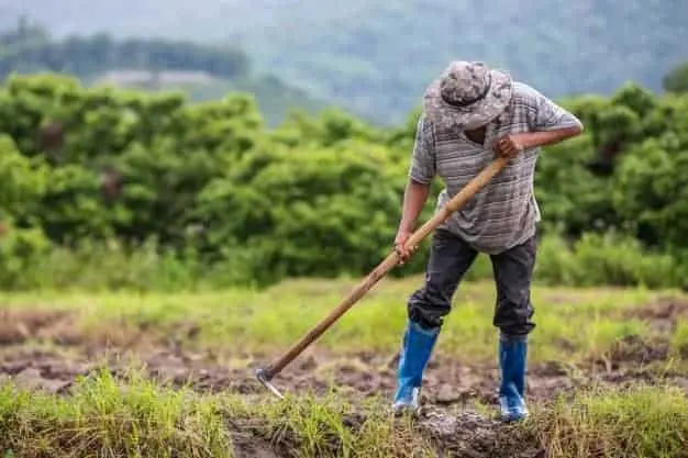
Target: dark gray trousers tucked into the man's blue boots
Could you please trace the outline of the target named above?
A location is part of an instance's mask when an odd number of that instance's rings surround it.
[[[535,327],[531,280],[536,247],[533,236],[522,245],[490,256],[497,287],[492,324],[504,336],[525,336]],[[477,255],[460,237],[436,230],[431,239],[425,282],[409,298],[409,319],[423,327],[442,326],[454,293]]]

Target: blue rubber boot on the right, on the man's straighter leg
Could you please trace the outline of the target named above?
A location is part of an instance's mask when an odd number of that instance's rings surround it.
[[[518,422],[528,416],[525,406],[526,336],[501,336],[499,339],[499,365],[501,383],[499,403],[506,422]]]

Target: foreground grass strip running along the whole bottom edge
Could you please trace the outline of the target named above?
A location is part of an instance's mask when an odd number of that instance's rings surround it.
[[[533,405],[521,425],[482,418],[479,427],[462,434],[470,447],[491,437],[492,449],[484,451],[492,457],[537,448],[552,458],[688,456],[688,399],[664,387],[580,392]],[[248,402],[234,394],[170,390],[135,370],[125,380],[100,371],[64,396],[0,386],[4,457],[234,457],[248,445],[254,453],[262,448],[282,457],[434,457],[435,446],[458,445],[436,433],[426,421],[392,418],[379,400]]]

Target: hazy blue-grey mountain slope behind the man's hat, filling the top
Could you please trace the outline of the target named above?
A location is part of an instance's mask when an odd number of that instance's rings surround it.
[[[0,0],[54,33],[240,44],[260,71],[371,121],[402,120],[453,58],[484,59],[553,97],[658,90],[688,59],[686,0]]]

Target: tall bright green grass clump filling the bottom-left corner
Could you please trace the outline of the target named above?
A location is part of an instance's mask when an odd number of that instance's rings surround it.
[[[121,384],[108,370],[68,396],[0,388],[0,450],[21,457],[220,457],[231,442],[217,405],[136,372]]]

